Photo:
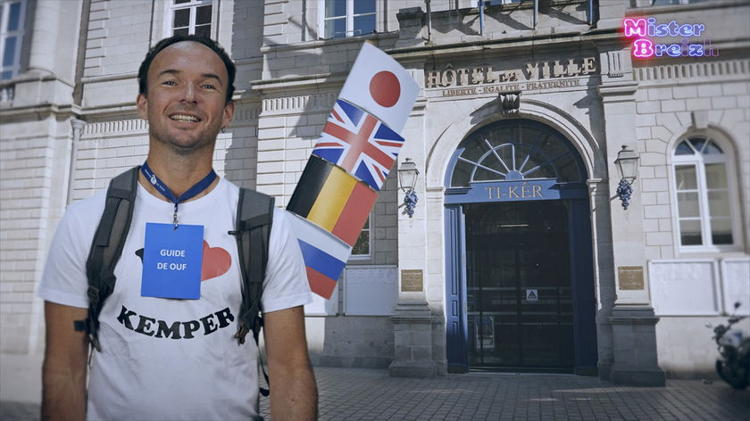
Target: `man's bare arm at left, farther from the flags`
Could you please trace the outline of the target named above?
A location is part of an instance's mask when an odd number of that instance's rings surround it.
[[[45,301],[46,350],[42,367],[42,419],[86,417],[88,339],[73,329],[87,310]]]

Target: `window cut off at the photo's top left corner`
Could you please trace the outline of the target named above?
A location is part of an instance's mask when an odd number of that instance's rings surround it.
[[[10,79],[21,70],[26,0],[0,3],[0,79]]]

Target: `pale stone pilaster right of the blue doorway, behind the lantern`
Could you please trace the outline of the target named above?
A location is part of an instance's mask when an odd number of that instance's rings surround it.
[[[604,109],[607,170],[611,199],[612,270],[616,299],[607,321],[612,326],[612,382],[663,386],[664,372],[656,354],[656,322],[648,294],[648,274],[643,232],[643,207],[638,181],[628,209],[623,209],[615,192],[620,173],[614,161],[622,144],[637,153],[637,81],[632,80],[629,50],[612,50],[601,55],[602,85],[599,95]],[[615,63],[617,63],[615,65]]]

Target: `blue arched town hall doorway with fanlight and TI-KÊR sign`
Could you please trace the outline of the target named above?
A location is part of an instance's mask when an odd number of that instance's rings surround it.
[[[475,130],[446,171],[448,370],[596,372],[587,174],[553,128]]]

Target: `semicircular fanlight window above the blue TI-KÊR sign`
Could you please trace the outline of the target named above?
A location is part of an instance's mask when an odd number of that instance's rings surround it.
[[[482,181],[586,179],[578,153],[551,128],[529,120],[504,120],[472,133],[456,151],[451,187]]]

